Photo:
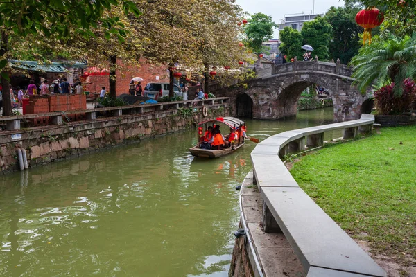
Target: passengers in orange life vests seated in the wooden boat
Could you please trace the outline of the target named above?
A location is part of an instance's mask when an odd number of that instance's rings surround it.
[[[245,126],[241,127],[241,132],[239,128],[229,128],[227,138],[221,134],[220,125],[209,126],[204,136],[202,136],[199,146],[202,149],[220,150],[221,148],[229,148],[239,143],[240,137],[242,141],[247,138]]]

